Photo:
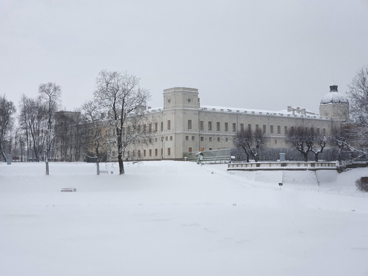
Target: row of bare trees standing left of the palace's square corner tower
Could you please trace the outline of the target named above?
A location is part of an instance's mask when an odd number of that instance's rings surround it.
[[[21,161],[81,161],[97,163],[118,160],[124,174],[128,146],[149,144],[152,117],[144,110],[151,97],[139,86],[140,79],[119,71],[102,70],[96,78],[93,99],[74,112],[62,110],[61,87],[54,82],[40,84],[38,96],[23,94],[16,114],[15,105],[0,95],[0,155],[19,155]],[[15,118],[18,124],[15,124]]]

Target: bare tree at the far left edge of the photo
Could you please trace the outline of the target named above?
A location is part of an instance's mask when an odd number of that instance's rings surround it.
[[[6,140],[10,139],[11,129],[14,126],[15,106],[14,103],[6,99],[6,96],[0,95],[0,153],[6,160],[5,144]]]

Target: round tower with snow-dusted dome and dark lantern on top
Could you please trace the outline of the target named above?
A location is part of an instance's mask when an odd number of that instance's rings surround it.
[[[323,117],[335,120],[347,120],[349,118],[349,101],[339,91],[335,82],[330,85],[330,92],[321,100],[319,114]]]

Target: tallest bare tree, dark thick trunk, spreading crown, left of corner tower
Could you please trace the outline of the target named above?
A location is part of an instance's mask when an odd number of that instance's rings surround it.
[[[105,118],[115,130],[119,174],[124,174],[125,149],[136,142],[148,140],[145,129],[138,131],[139,124],[145,124],[145,109],[151,94],[139,86],[139,78],[125,72],[102,70],[96,79],[95,99]]]

